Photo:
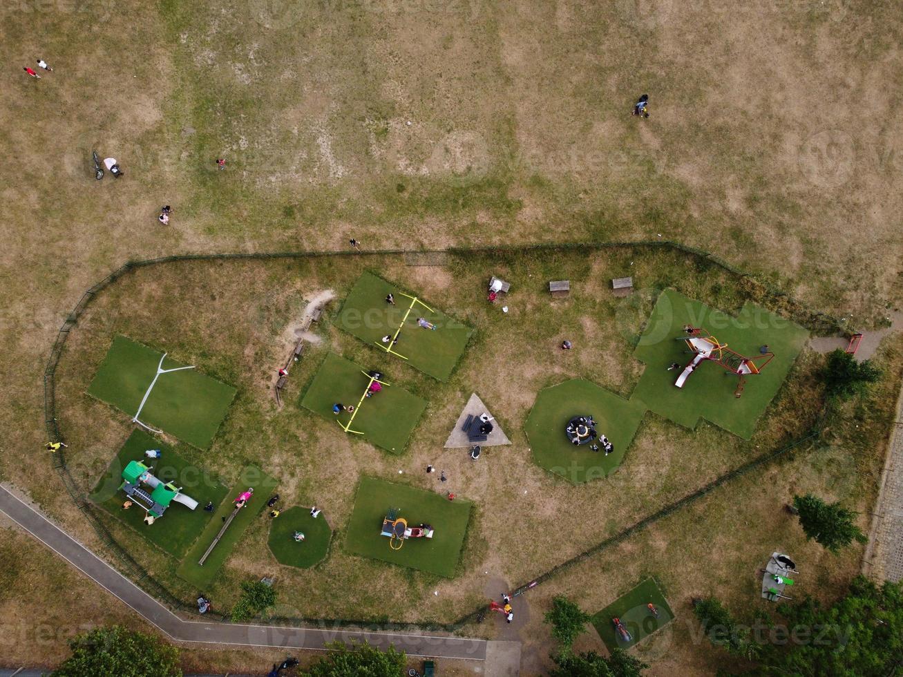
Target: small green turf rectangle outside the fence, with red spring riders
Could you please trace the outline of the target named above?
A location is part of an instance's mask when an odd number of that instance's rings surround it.
[[[657,617],[653,616],[646,606],[649,602],[658,607]],[[593,615],[590,622],[605,645],[609,647],[609,651],[613,651],[614,649],[628,649],[636,645],[644,637],[652,635],[659,628],[666,626],[674,620],[674,617],[674,611],[668,606],[656,580],[647,579],[626,595],[617,598],[598,614]],[[632,641],[626,642],[621,639],[612,618],[620,618],[630,635],[633,635]]]

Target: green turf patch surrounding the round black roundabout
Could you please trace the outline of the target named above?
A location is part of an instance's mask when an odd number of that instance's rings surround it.
[[[629,401],[583,379],[565,381],[540,391],[524,429],[536,464],[573,484],[604,478],[624,459],[639,422],[646,413],[642,403]],[[591,415],[596,431],[614,445],[608,455],[591,451],[589,444],[575,447],[564,429],[574,416]]]

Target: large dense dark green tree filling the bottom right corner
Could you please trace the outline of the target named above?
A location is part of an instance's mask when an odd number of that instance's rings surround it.
[[[780,608],[791,628],[806,635],[768,661],[781,675],[884,677],[903,665],[903,584],[880,588],[861,576],[831,607],[806,599]]]

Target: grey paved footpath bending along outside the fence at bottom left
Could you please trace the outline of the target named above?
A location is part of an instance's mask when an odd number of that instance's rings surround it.
[[[0,484],[0,511],[177,642],[323,650],[324,645],[336,640],[367,641],[380,649],[395,645],[396,649],[410,656],[478,661],[486,659],[487,642],[482,639],[394,632],[374,633],[348,628],[249,626],[183,620],[68,533],[63,532],[31,505],[23,503],[2,484]]]

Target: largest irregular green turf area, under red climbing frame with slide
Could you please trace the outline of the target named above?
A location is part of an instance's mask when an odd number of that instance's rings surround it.
[[[680,372],[667,371],[667,366],[672,362],[685,366],[692,358],[684,341],[677,340],[686,336],[686,324],[708,329],[740,355],[758,356],[759,347],[768,344],[775,357],[761,374],[746,376],[740,398],[734,396],[738,377],[712,362],[703,361],[684,387],[678,388],[674,384]],[[734,318],[681,293],[663,292],[634,351],[646,363],[646,369],[631,401],[645,403],[652,411],[688,428],[694,428],[703,417],[749,440],[808,336],[799,325],[751,303]]]

